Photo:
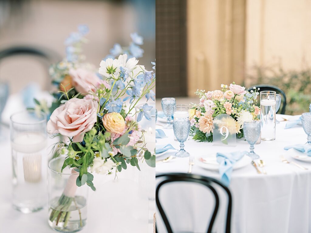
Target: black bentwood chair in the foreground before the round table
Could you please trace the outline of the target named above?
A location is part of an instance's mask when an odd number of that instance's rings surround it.
[[[172,228],[169,224],[168,218],[166,217],[166,214],[162,208],[162,205],[159,200],[159,190],[162,187],[162,185],[171,183],[171,182],[179,182],[179,181],[186,181],[186,182],[194,182],[194,183],[199,183],[202,185],[205,185],[208,189],[211,190],[211,192],[214,194],[215,197],[215,208],[207,229],[207,233],[211,233],[212,227],[218,212],[219,208],[219,195],[215,189],[215,187],[221,187],[224,191],[225,194],[228,196],[228,206],[227,206],[227,219],[226,219],[226,233],[230,233],[230,222],[231,222],[231,206],[232,206],[232,197],[230,190],[223,185],[219,180],[210,178],[210,177],[205,177],[205,176],[199,176],[199,175],[194,175],[194,174],[189,174],[189,173],[166,173],[166,174],[160,174],[156,176],[156,179],[162,177],[163,180],[157,185],[156,187],[156,205],[159,209],[160,215],[163,219],[163,222],[165,224],[166,230],[168,233],[173,233]],[[157,231],[156,231],[157,232]]]

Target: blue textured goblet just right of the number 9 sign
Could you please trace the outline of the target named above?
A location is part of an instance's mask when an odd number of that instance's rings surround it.
[[[243,132],[247,142],[251,145],[250,152],[247,154],[252,160],[258,159],[259,155],[254,152],[254,144],[260,135],[259,121],[245,121],[243,124]]]

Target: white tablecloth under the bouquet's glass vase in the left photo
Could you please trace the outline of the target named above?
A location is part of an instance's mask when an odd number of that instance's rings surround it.
[[[0,126],[1,127],[1,126]],[[24,214],[12,208],[12,159],[9,130],[1,127],[0,139],[0,232],[53,233],[48,225],[48,208]],[[50,140],[51,144],[51,140]],[[48,155],[46,155],[48,156]],[[153,213],[156,205],[154,194],[155,169],[144,162],[142,171],[128,166],[127,170],[114,175],[94,174],[96,191],[89,190],[86,226],[81,233],[152,233]],[[137,195],[137,193],[143,193]],[[144,197],[142,198],[138,198]],[[148,197],[151,200],[148,201]],[[122,206],[122,207],[121,207]],[[143,216],[142,216],[143,215]]]

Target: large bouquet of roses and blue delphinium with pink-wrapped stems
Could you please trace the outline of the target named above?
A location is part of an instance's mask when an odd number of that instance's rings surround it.
[[[74,48],[83,41],[82,35],[75,34],[69,40]],[[138,110],[136,107],[144,97],[147,101],[154,99],[153,71],[138,65],[135,57],[128,59],[127,54],[122,54],[118,59],[101,61],[96,74],[89,66],[81,65],[76,55],[70,56],[73,60],[65,59],[66,69],[55,68],[60,64],[53,68],[57,77],[53,82],[58,80],[59,88],[53,95],[58,99],[47,123],[48,133],[63,139],[56,147],[56,157],[66,155],[62,171],[68,166],[79,174],[77,179],[68,180],[58,200],[61,208],[50,212],[51,222],[64,225],[67,208],[75,196],[76,188],[72,187],[88,185],[95,190],[92,173],[117,176],[129,165],[140,170],[139,160],[155,167],[155,155],[146,148],[145,131],[137,122],[142,117],[151,120],[152,107],[148,103],[139,105]]]

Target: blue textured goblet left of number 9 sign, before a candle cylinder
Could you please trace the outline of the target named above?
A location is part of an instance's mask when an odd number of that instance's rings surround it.
[[[184,142],[187,140],[190,132],[190,121],[187,118],[176,118],[173,122],[174,135],[180,142],[180,150],[175,157],[188,157],[190,154],[184,150]]]

